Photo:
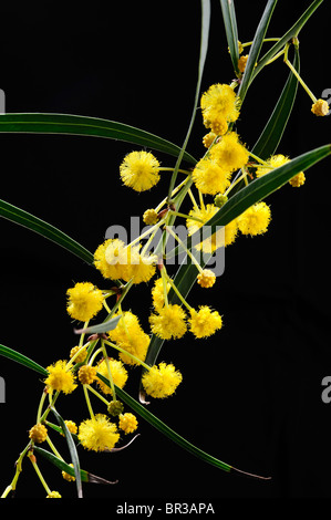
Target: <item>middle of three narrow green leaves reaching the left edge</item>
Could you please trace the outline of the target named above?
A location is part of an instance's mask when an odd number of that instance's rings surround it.
[[[55,228],[51,223],[34,217],[34,215],[31,215],[28,211],[13,206],[12,204],[6,202],[4,200],[0,200],[0,216],[10,220],[11,222],[23,226],[24,228],[28,228],[44,238],[48,238],[52,242],[58,243],[58,246],[63,247],[85,262],[93,263],[93,254],[87,251],[87,249],[65,235],[63,231],[60,231],[60,229]]]

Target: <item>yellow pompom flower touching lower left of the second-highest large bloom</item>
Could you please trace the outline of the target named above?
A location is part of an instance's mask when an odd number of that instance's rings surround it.
[[[231,171],[224,169],[218,162],[204,158],[193,170],[192,178],[201,194],[216,195],[230,186]]]

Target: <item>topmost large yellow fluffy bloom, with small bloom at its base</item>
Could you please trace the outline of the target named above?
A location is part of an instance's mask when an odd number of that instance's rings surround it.
[[[201,96],[204,125],[217,135],[224,135],[228,123],[239,117],[239,104],[234,89],[226,84],[214,84]]]

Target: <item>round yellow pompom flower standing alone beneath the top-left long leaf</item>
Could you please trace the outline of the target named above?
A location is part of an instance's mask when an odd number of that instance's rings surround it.
[[[120,166],[125,186],[136,191],[145,191],[159,180],[159,163],[149,152],[131,152]]]

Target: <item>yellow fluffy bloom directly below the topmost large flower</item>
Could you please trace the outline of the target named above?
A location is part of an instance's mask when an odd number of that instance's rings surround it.
[[[249,159],[247,148],[240,143],[236,132],[229,132],[210,149],[211,159],[225,170],[232,173],[242,168]]]

